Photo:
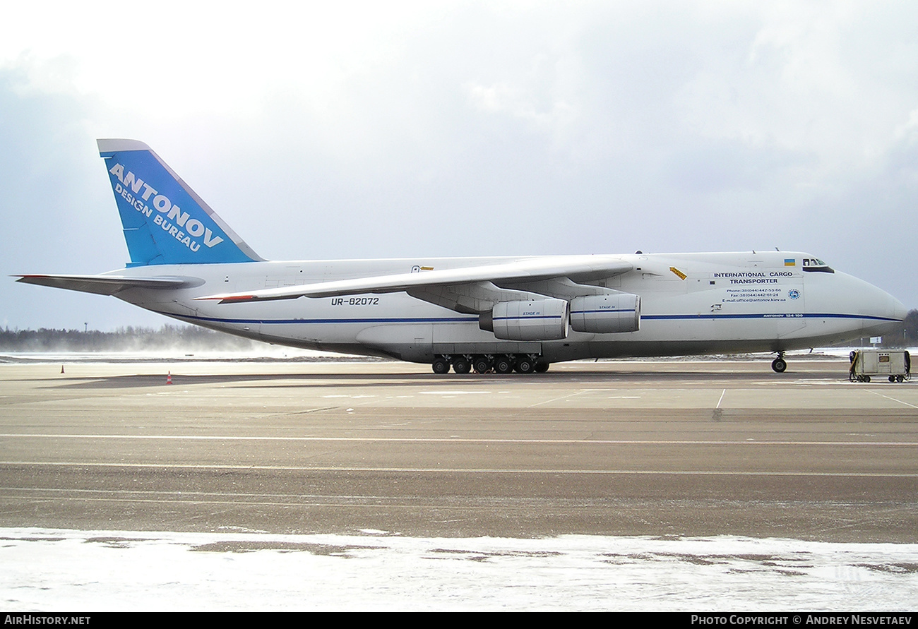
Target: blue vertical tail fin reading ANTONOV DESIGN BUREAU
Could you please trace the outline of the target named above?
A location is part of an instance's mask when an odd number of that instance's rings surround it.
[[[128,241],[129,266],[263,260],[149,146],[97,141]]]

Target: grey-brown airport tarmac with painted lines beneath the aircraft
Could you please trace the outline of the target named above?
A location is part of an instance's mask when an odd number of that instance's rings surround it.
[[[60,370],[0,365],[0,526],[918,541],[918,387],[845,360]]]

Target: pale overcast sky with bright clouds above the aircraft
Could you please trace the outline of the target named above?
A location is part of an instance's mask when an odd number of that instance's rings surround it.
[[[96,138],[267,259],[778,247],[918,307],[913,2],[7,3],[3,275],[127,262]],[[167,322],[12,278],[0,304]]]

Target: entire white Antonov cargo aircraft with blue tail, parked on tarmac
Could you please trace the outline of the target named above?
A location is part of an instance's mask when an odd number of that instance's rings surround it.
[[[98,140],[130,263],[20,282],[112,295],[214,330],[433,371],[784,352],[879,335],[901,302],[810,253],[270,262],[137,140]]]

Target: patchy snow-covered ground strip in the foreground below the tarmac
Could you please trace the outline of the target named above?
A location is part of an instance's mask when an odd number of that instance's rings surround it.
[[[8,611],[908,611],[918,544],[0,529]]]

